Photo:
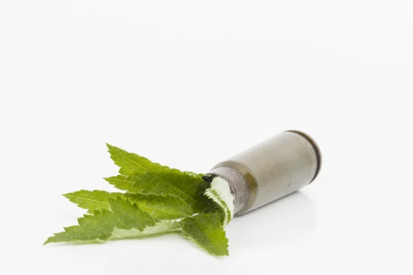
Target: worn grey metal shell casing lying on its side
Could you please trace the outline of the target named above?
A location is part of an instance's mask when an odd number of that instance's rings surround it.
[[[209,174],[229,182],[235,215],[240,215],[310,184],[320,166],[315,141],[300,131],[285,131],[220,162]]]

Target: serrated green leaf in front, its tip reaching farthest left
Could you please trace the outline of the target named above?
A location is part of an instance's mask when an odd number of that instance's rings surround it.
[[[61,241],[93,241],[100,239],[107,241],[114,232],[114,228],[142,231],[147,226],[156,225],[147,212],[121,197],[109,198],[109,210],[94,210],[94,214],[85,214],[78,219],[78,225],[65,228],[64,232],[50,236],[44,244]]]

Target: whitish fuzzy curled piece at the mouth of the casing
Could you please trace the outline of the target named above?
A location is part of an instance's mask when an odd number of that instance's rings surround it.
[[[225,213],[225,224],[228,224],[233,218],[235,208],[234,195],[231,192],[229,182],[222,177],[214,177],[211,187],[205,191],[205,195],[222,207]]]

